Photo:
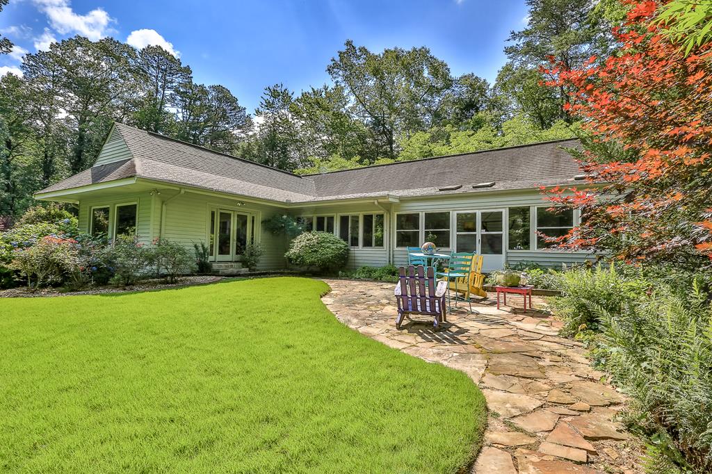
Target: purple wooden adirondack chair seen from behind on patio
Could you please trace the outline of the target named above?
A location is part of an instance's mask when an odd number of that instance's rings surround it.
[[[433,267],[426,269],[423,265],[400,267],[398,275],[399,281],[393,292],[398,303],[396,329],[400,329],[407,315],[433,316],[435,328],[447,320],[445,315],[447,282],[439,281],[436,284]]]

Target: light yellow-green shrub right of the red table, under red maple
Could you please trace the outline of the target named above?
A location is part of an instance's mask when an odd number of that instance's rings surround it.
[[[622,275],[615,265],[575,267],[559,274],[562,296],[554,298],[553,308],[565,322],[564,334],[595,331],[599,324],[597,308],[620,314],[649,288],[646,280]]]

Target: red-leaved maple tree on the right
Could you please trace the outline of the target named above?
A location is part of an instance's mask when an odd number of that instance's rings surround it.
[[[562,248],[696,268],[712,257],[712,45],[685,56],[654,21],[666,1],[626,0],[614,56],[553,67],[548,85],[570,90],[565,108],[587,133],[577,154],[592,187],[544,189],[582,209]]]

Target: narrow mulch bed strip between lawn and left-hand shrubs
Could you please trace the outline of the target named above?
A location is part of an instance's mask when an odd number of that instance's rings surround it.
[[[165,290],[168,288],[182,288],[191,285],[204,285],[222,280],[222,277],[213,275],[198,275],[179,278],[176,283],[167,283],[163,278],[141,280],[136,285],[127,287],[98,286],[90,287],[80,291],[63,291],[62,288],[41,288],[41,290],[31,291],[26,287],[12,288],[10,290],[0,290],[0,297],[46,297],[46,296],[71,296],[71,295],[103,295],[105,293],[127,293],[130,291]]]

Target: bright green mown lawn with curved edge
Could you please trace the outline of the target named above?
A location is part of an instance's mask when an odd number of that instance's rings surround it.
[[[0,300],[1,472],[456,472],[485,402],[460,372],[265,278]]]

